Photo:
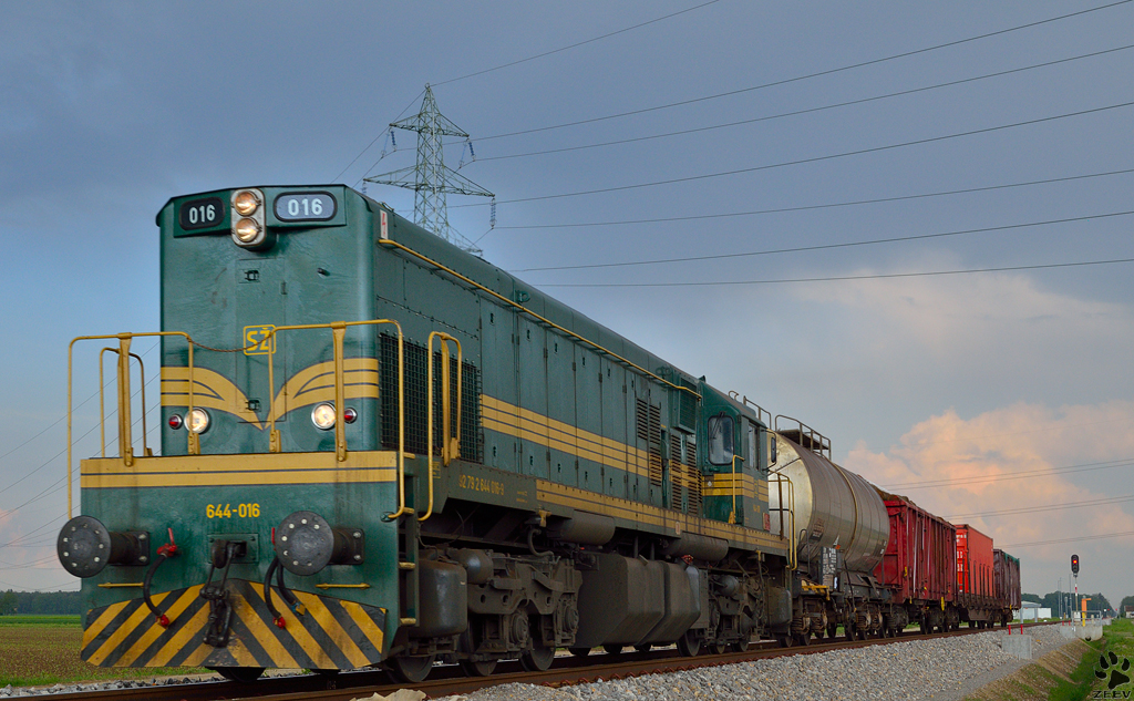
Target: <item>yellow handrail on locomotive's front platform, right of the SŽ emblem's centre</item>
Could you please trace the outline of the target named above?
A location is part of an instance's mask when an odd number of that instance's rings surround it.
[[[391,324],[398,331],[398,510],[386,515],[387,521],[393,521],[403,516],[404,514],[412,514],[413,509],[406,506],[406,413],[405,413],[405,391],[403,387],[403,379],[405,372],[405,346],[404,337],[401,335],[401,324],[392,319],[371,319],[367,321],[333,321],[331,323],[301,323],[294,326],[276,327],[270,330],[260,344],[268,344],[271,348],[269,355],[274,355],[276,350],[272,344],[269,341],[280,331],[303,331],[310,329],[330,329],[331,337],[335,345],[335,453],[336,459],[339,462],[347,459],[347,439],[346,439],[346,428],[342,425],[342,411],[345,403],[345,369],[342,358],[342,340],[346,336],[347,327],[364,327],[364,326],[379,326],[379,324]],[[273,360],[268,361],[268,389],[269,396],[276,396],[276,363]],[[280,432],[276,429],[276,413],[274,407],[269,407],[268,411],[268,440],[269,450],[271,453],[280,453],[282,450],[282,442],[280,440]]]

